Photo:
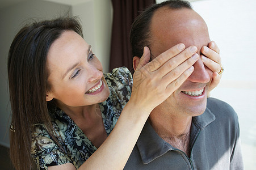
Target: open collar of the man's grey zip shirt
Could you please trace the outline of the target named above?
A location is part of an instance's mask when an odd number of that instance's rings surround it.
[[[203,114],[192,118],[192,125],[194,125],[195,128],[203,130],[213,121],[215,121],[214,114],[208,108],[206,108]],[[191,130],[195,128],[192,128]],[[152,162],[154,159],[162,156],[167,151],[174,150],[169,143],[163,141],[163,139],[158,136],[148,121],[146,121],[146,124],[141,131],[136,145],[144,164]]]

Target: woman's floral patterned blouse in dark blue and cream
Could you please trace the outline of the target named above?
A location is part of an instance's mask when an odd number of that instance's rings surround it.
[[[110,89],[110,96],[99,106],[104,127],[109,135],[131,97],[132,75],[127,68],[121,67],[104,74],[104,77]],[[44,124],[35,124],[31,155],[37,168],[48,169],[49,166],[65,163],[72,163],[74,167],[79,168],[97,148],[61,109],[56,107],[49,111],[49,114],[62,148],[53,142]]]

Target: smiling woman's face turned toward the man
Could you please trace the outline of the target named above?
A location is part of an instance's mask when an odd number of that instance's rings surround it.
[[[91,46],[74,31],[64,31],[53,42],[47,67],[52,87],[48,101],[54,98],[58,104],[81,107],[100,103],[110,94],[102,64]]]

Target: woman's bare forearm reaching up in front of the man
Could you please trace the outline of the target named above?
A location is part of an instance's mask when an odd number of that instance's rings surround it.
[[[128,102],[106,141],[79,169],[123,169],[149,114]]]

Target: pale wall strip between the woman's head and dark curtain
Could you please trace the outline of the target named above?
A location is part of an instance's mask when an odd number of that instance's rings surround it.
[[[110,61],[112,13],[111,0],[87,0],[72,6],[72,14],[81,18],[83,36],[102,62],[105,73],[109,69]]]

